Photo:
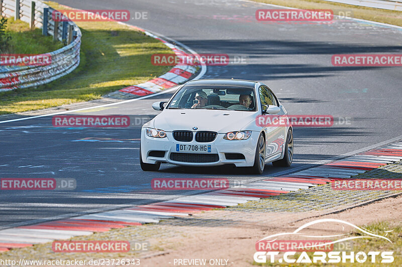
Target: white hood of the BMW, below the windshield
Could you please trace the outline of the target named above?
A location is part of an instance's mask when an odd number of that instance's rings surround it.
[[[166,109],[154,118],[154,127],[164,131],[188,130],[227,133],[243,129],[254,121],[257,112],[233,110]],[[254,128],[254,127],[253,127]]]

